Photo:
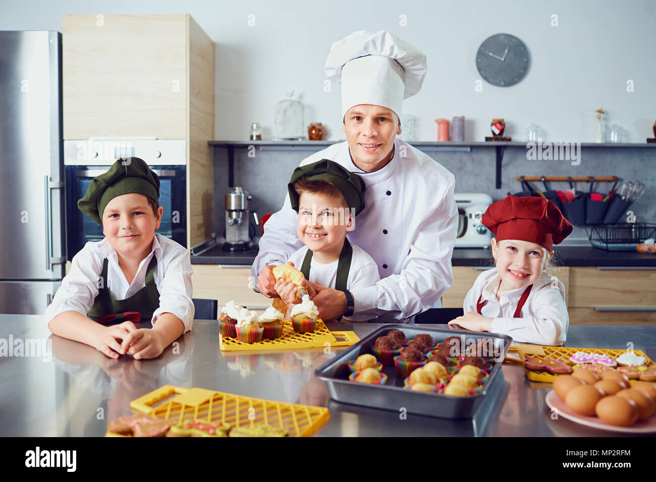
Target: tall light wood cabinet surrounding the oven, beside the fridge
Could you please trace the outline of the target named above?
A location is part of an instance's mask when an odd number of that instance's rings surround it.
[[[214,42],[188,14],[64,15],[64,140],[186,140],[187,247],[214,237]]]

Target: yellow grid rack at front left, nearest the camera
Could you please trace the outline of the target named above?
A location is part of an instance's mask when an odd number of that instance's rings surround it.
[[[157,404],[157,405],[155,405]],[[309,437],[330,418],[325,407],[297,405],[215,392],[205,388],[165,385],[131,401],[131,409],[176,422],[197,419],[235,427],[268,424],[287,430],[288,437]],[[106,437],[123,437],[107,432]]]

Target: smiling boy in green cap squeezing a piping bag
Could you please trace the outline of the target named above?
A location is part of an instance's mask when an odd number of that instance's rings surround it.
[[[357,174],[321,159],[295,169],[288,190],[292,207],[298,212],[297,236],[305,246],[287,262],[302,271],[308,281],[340,291],[370,287],[380,281],[371,256],[346,239],[346,233],[354,229],[355,216],[365,207],[365,184]],[[300,302],[297,287],[285,279],[279,279],[275,286],[289,316],[291,306]],[[312,294],[312,289],[308,291]],[[366,321],[369,317],[344,319]]]

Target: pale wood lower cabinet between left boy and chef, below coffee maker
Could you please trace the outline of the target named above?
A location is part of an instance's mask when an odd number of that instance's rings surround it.
[[[217,264],[194,264],[194,298],[218,300],[224,306],[230,300],[249,308],[266,308],[272,300],[253,291],[251,268],[228,268]]]

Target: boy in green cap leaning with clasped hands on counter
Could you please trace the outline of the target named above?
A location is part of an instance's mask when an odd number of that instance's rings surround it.
[[[94,178],[77,207],[105,239],[75,254],[45,312],[49,329],[108,357],[159,356],[194,319],[189,252],[155,230],[159,177],[138,157]],[[150,321],[152,329],[134,323]]]

